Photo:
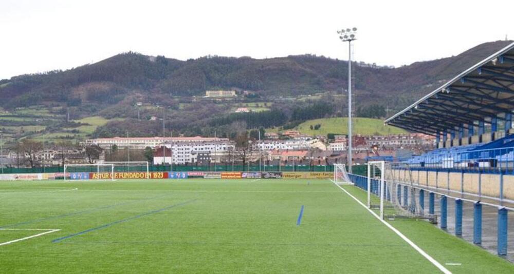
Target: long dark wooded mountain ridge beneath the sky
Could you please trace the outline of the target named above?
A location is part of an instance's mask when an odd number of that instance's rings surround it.
[[[356,63],[355,115],[383,119],[508,43],[485,43],[399,68]],[[231,136],[296,126],[345,116],[346,75],[346,61],[315,55],[180,61],[127,52],[65,71],[0,80],[0,130],[7,142],[42,135],[56,140],[156,135],[162,134],[164,112],[166,128],[174,134]],[[209,89],[236,90],[237,97],[203,98]],[[254,112],[234,114],[238,107]],[[68,123],[68,115],[79,122]],[[91,117],[103,122],[80,122]]]

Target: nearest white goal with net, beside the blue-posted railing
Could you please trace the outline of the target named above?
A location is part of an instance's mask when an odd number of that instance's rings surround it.
[[[435,217],[425,210],[425,190],[414,186],[408,164],[368,163],[368,207],[382,219]]]

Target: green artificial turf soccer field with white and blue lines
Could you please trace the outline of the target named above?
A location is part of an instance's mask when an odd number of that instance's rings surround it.
[[[1,273],[439,272],[329,180],[0,182],[0,209]],[[390,223],[452,272],[514,272],[428,222]]]

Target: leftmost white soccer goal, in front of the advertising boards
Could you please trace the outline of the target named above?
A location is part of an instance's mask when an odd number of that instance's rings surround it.
[[[90,177],[90,173],[94,173]],[[111,180],[114,181],[113,164],[65,164],[64,181],[66,180]]]

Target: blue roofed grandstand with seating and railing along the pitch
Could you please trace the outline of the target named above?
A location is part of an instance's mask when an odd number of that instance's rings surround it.
[[[508,213],[514,211],[513,109],[514,43],[385,121],[433,135],[437,147],[379,170],[382,176],[386,173],[384,187],[398,188],[397,193],[386,192],[386,201],[397,194],[400,207],[416,204],[418,216],[428,212],[440,228],[512,261],[514,222],[508,222]],[[380,196],[376,174],[368,175],[367,184],[365,176],[350,178]]]

